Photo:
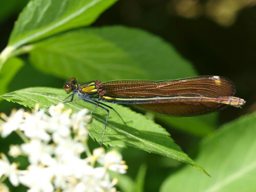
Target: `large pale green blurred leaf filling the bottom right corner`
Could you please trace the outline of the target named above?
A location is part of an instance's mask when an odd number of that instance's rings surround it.
[[[161,192],[256,191],[256,113],[223,125],[201,142],[197,161],[207,167],[212,178],[188,166],[165,180]],[[186,180],[186,184],[182,184]],[[198,183],[198,184],[195,184]]]

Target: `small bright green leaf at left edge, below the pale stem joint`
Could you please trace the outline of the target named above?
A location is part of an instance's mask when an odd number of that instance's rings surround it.
[[[23,60],[12,57],[7,60],[6,65],[3,67],[0,72],[0,95],[7,92],[7,87],[9,86],[10,81],[14,78],[16,73],[24,66]]]

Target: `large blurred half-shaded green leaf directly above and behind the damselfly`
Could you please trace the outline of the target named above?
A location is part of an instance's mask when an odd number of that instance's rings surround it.
[[[185,59],[161,38],[126,27],[76,30],[34,45],[37,69],[62,78],[174,79],[195,76]]]

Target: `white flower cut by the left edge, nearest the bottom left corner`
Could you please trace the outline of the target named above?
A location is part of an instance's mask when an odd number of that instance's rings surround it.
[[[1,154],[0,159],[0,178],[6,175],[13,186],[18,186],[18,170],[17,163],[10,164],[9,160],[4,154]]]

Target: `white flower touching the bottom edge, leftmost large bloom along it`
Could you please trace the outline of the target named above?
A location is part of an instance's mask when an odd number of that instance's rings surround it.
[[[52,169],[48,167],[29,165],[27,170],[20,170],[19,174],[20,183],[29,187],[30,189],[28,191],[54,191],[54,186],[51,182],[53,178],[53,173]]]

